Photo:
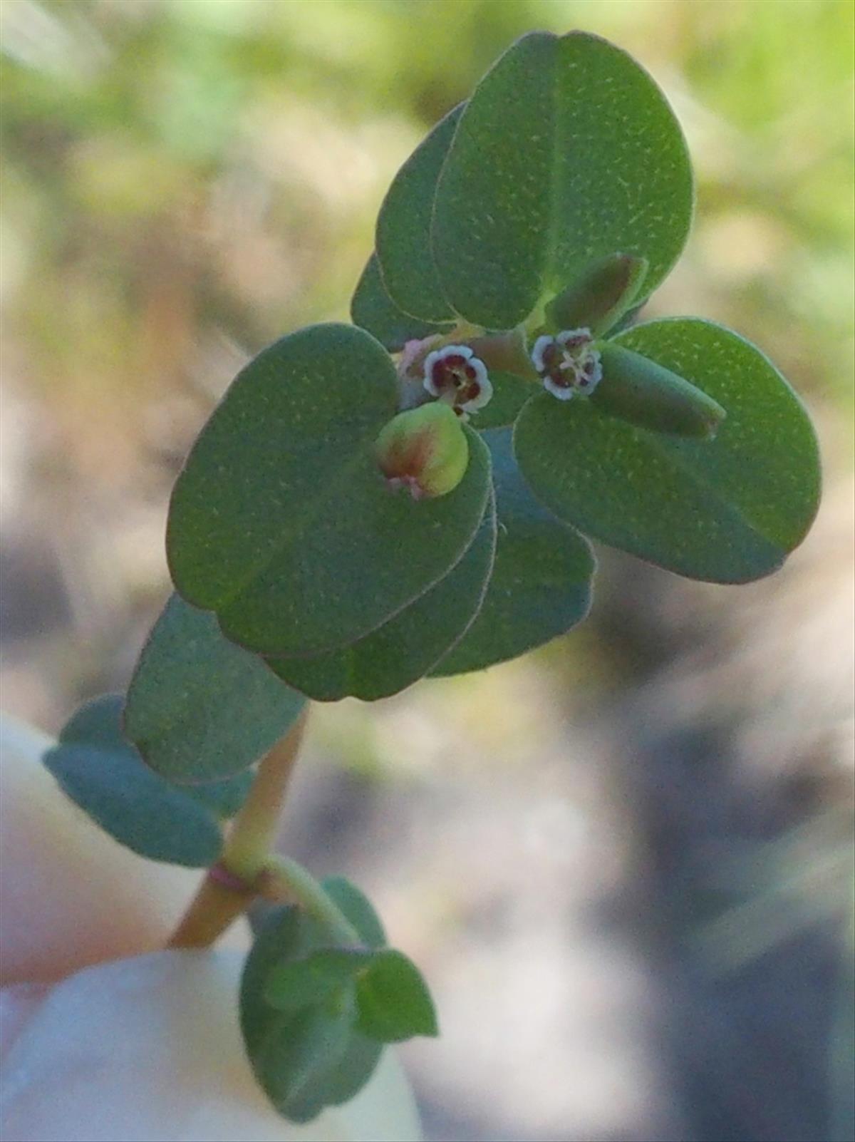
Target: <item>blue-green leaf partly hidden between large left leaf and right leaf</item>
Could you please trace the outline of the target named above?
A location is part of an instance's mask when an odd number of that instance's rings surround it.
[[[589,544],[529,491],[509,431],[484,433],[484,440],[493,458],[499,523],[493,573],[475,621],[434,668],[434,677],[516,658],[570,630],[590,606],[595,561]]]

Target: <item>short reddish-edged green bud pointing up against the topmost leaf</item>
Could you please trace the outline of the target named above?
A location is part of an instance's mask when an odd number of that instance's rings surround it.
[[[600,258],[549,303],[547,325],[552,329],[583,327],[592,337],[602,337],[630,308],[646,275],[646,258],[630,254]]]

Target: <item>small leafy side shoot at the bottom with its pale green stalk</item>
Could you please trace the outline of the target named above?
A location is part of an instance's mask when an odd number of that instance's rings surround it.
[[[421,975],[386,947],[365,896],[341,878],[322,887],[361,944],[341,946],[304,909],[277,908],[256,938],[241,983],[241,1028],[252,1069],[293,1121],[350,1099],[385,1043],[437,1034]]]

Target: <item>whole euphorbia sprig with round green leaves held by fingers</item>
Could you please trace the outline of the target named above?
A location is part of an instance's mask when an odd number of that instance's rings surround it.
[[[172,493],[176,594],[127,699],[46,755],[120,841],[209,869],[174,947],[274,902],[241,1019],[292,1119],[437,1030],[362,893],[273,852],[306,700],[570,630],[589,539],[737,584],[810,525],[816,441],[774,365],[709,321],[638,321],[692,210],[679,126],[629,56],[580,32],[515,43],[393,182],[354,323],[289,333],[229,387]]]

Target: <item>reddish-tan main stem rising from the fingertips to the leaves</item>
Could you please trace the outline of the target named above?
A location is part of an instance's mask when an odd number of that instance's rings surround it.
[[[284,738],[261,758],[216,866],[220,878],[215,870],[204,878],[167,947],[209,947],[258,895],[258,880],[271,860],[307,714],[308,706]]]

